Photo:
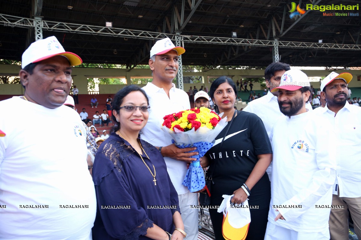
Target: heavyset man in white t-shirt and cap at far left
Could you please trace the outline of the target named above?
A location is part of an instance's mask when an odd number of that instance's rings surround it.
[[[33,42],[19,72],[24,96],[0,102],[0,109],[21,109],[11,121],[0,118],[6,131],[0,138],[1,239],[91,239],[96,200],[86,131],[77,112],[63,105],[71,66],[81,63],[54,36]],[[61,124],[54,128],[55,122]],[[37,135],[36,129],[51,131]]]

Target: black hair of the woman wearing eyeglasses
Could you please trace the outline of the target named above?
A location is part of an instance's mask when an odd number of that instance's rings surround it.
[[[128,94],[130,94],[131,92],[134,92],[134,91],[142,92],[145,99],[147,99],[147,104],[149,105],[149,99],[148,99],[148,96],[145,93],[145,91],[136,85],[129,85],[129,86],[123,87],[121,90],[119,90],[116,93],[116,95],[114,95],[114,98],[112,101],[112,110],[116,110],[117,113],[119,114],[120,105],[122,104],[123,99]],[[120,129],[120,125],[119,125],[119,122],[117,122],[117,118],[114,116],[114,114],[112,114],[112,119],[113,119],[113,122],[115,122],[116,124],[114,124],[114,126],[112,127],[112,130],[110,130],[110,132],[116,132]]]

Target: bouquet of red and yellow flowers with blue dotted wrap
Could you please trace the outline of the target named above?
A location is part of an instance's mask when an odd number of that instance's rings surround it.
[[[183,185],[191,192],[203,189],[204,172],[199,160],[212,148],[214,139],[226,126],[227,118],[221,119],[217,113],[201,107],[169,114],[163,119],[162,129],[170,134],[178,148],[196,147],[194,151],[199,153],[193,156],[197,160],[190,164]]]

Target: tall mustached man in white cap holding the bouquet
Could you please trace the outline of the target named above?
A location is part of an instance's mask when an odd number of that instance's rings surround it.
[[[197,205],[196,193],[190,193],[186,186],[182,185],[187,172],[187,162],[195,160],[193,155],[197,152],[187,153],[196,148],[177,148],[172,144],[170,136],[160,130],[164,116],[190,109],[189,97],[183,90],[177,89],[172,82],[177,76],[179,55],[186,50],[176,47],[167,37],[158,40],[151,49],[149,67],[152,70],[153,80],[143,87],[149,97],[151,112],[147,125],[143,128],[142,139],[156,146],[163,155],[169,177],[177,190],[179,207],[186,239],[196,240],[198,235],[198,210],[191,209],[190,205]],[[179,234],[175,231],[174,234]]]

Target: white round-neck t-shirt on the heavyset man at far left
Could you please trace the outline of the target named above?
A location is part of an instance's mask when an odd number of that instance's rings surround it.
[[[91,239],[96,199],[79,115],[17,96],[0,101],[0,109],[10,108],[19,111],[0,118],[6,133],[0,137],[0,205],[6,205],[0,208],[0,238]]]

